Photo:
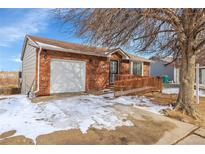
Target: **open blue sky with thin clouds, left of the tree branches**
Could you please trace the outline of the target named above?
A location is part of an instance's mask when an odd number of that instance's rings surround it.
[[[82,42],[64,32],[51,9],[0,9],[0,71],[20,70],[26,34]]]

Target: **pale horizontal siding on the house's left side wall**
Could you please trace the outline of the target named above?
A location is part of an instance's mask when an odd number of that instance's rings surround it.
[[[36,48],[29,44],[27,41],[22,61],[22,94],[28,93],[36,77]]]

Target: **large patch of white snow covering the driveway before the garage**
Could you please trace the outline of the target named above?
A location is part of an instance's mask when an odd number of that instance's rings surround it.
[[[82,133],[89,127],[111,130],[133,125],[127,115],[113,108],[115,104],[140,106],[155,113],[168,107],[153,104],[145,97],[112,96],[74,96],[38,104],[31,103],[25,95],[0,96],[0,134],[16,130],[15,136],[24,135],[35,141],[39,135],[58,130],[79,128]]]

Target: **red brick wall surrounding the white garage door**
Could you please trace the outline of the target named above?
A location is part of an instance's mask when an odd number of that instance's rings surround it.
[[[51,59],[79,60],[86,62],[86,91],[106,87],[109,81],[109,61],[105,57],[88,56],[59,51],[42,51],[40,56],[40,86],[37,95],[50,94]]]

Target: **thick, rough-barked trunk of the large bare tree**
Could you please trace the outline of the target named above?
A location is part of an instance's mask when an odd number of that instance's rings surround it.
[[[180,90],[176,102],[176,110],[196,118],[196,103],[194,97],[196,56],[182,57],[180,68]]]

